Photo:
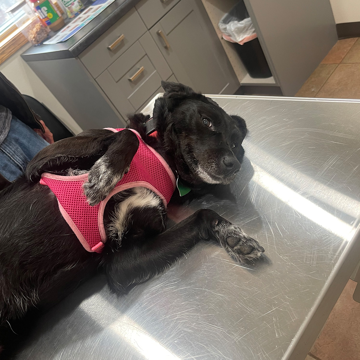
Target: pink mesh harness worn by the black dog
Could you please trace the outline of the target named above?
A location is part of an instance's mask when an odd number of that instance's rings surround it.
[[[107,129],[114,132],[124,130]],[[174,193],[175,176],[166,161],[144,143],[137,131],[129,130],[138,136],[139,149],[131,161],[129,172],[99,204],[90,206],[86,201],[82,185],[87,181],[88,174],[60,176],[45,172],[41,175],[40,184],[49,186],[55,194],[60,212],[87,251],[102,252],[106,242],[104,209],[114,194],[142,186],[158,194],[166,207]]]

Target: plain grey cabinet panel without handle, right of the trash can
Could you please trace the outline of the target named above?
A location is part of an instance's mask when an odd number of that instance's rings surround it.
[[[329,0],[244,0],[284,96],[293,96],[337,41]]]

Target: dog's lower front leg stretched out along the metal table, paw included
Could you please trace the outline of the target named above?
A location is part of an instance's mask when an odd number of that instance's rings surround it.
[[[105,254],[105,271],[115,292],[152,278],[173,264],[196,243],[216,239],[239,261],[255,259],[264,252],[259,243],[239,227],[212,210],[199,210],[173,228],[152,239],[144,239]],[[131,240],[130,240],[131,241]]]

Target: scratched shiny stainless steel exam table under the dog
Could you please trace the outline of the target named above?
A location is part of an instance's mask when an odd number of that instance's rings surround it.
[[[303,360],[360,254],[360,103],[213,96],[243,116],[246,159],[212,208],[264,246],[246,266],[200,244],[126,296],[102,276],[35,325],[18,359]]]

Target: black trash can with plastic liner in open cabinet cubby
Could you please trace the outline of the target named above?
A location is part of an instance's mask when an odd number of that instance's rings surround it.
[[[232,42],[252,78],[271,76],[264,52],[256,36],[244,1],[239,1],[219,22],[222,37]]]

